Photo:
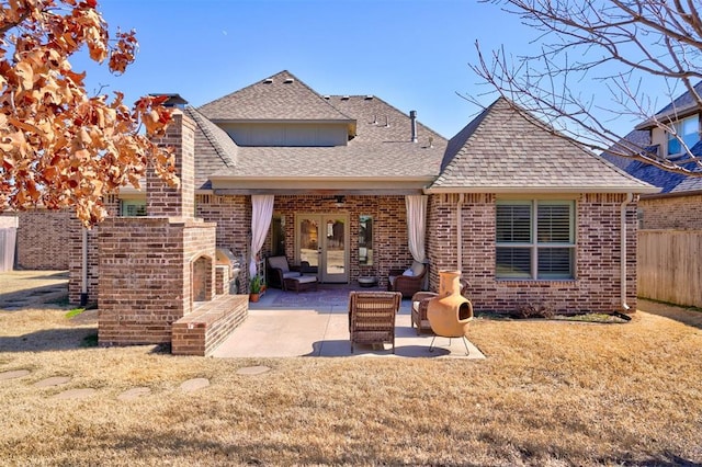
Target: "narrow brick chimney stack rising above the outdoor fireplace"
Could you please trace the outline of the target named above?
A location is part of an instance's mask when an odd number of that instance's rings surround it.
[[[176,109],[166,136],[156,143],[173,148],[180,186],[169,186],[149,166],[146,175],[146,213],[149,217],[192,218],[195,215],[195,123]]]

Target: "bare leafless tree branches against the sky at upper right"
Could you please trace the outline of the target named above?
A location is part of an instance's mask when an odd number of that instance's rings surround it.
[[[702,159],[682,136],[686,157],[670,160],[636,138],[611,129],[611,117],[630,116],[676,135],[676,95],[702,110],[702,19],[699,0],[492,0],[540,33],[537,54],[510,59],[503,49],[486,59],[479,43],[473,70],[520,112],[540,115],[564,137],[592,150],[702,176]],[[573,58],[577,57],[577,58]],[[584,95],[600,81],[610,99]],[[666,90],[669,107],[657,114],[646,93]],[[695,88],[695,84],[697,88]],[[580,91],[578,91],[580,90]],[[475,101],[475,100],[474,100]],[[632,135],[633,136],[633,135]]]

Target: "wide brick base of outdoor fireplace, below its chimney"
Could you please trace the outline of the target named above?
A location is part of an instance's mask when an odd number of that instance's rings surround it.
[[[215,258],[215,226],[178,218],[110,218],[99,232],[101,345],[171,341],[193,309],[193,262]],[[208,296],[213,298],[214,266]]]

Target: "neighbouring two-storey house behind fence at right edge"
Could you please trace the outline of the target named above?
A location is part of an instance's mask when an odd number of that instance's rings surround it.
[[[702,92],[702,81],[695,87]],[[682,138],[690,152],[702,157],[700,125],[702,110],[689,92],[684,92],[670,104],[661,109],[654,118],[638,124],[624,139],[634,143],[648,152],[681,160],[687,157],[682,145],[670,133],[654,122],[670,122]],[[636,160],[602,155],[629,174],[660,187],[660,193],[643,194],[638,203],[639,228],[644,229],[702,229],[702,176],[689,176],[669,172]],[[700,172],[702,169],[693,162],[683,167]]]

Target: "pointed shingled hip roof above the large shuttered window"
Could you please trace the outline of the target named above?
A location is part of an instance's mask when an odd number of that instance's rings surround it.
[[[454,136],[429,192],[655,193],[503,98]]]

